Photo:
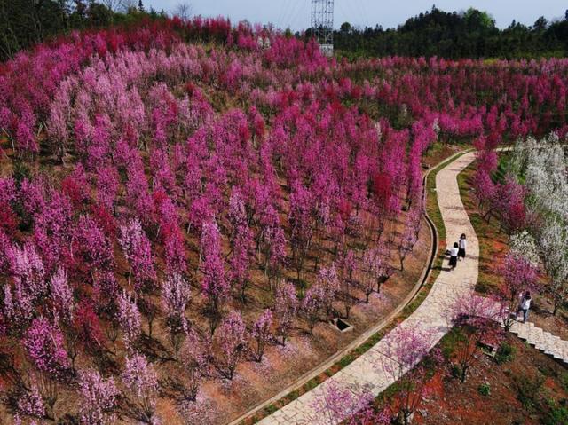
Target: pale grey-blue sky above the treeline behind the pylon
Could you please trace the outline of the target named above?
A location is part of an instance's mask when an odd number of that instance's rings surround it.
[[[143,0],[146,7],[172,12],[180,0]],[[187,0],[193,13],[203,16],[229,16],[231,20],[272,22],[276,27],[304,29],[310,26],[310,0]],[[410,16],[430,10],[432,4],[445,11],[466,10],[470,6],[493,15],[500,28],[512,20],[532,25],[537,18],[564,17],[564,0],[335,0],[335,28],[349,21],[355,26],[397,27]]]

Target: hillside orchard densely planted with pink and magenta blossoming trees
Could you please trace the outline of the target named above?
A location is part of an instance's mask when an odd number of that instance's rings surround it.
[[[327,59],[201,18],[21,52],[0,66],[5,417],[166,423],[167,399],[185,423],[214,417],[205,382],[230,391],[278,345],[286,363],[297,329],[317,340],[405,268],[438,140],[480,149],[479,201],[508,232],[558,213],[533,238],[563,302],[565,196],[491,173],[502,143],[564,138],[567,73],[565,59]],[[526,181],[561,178],[557,150],[520,152]]]

